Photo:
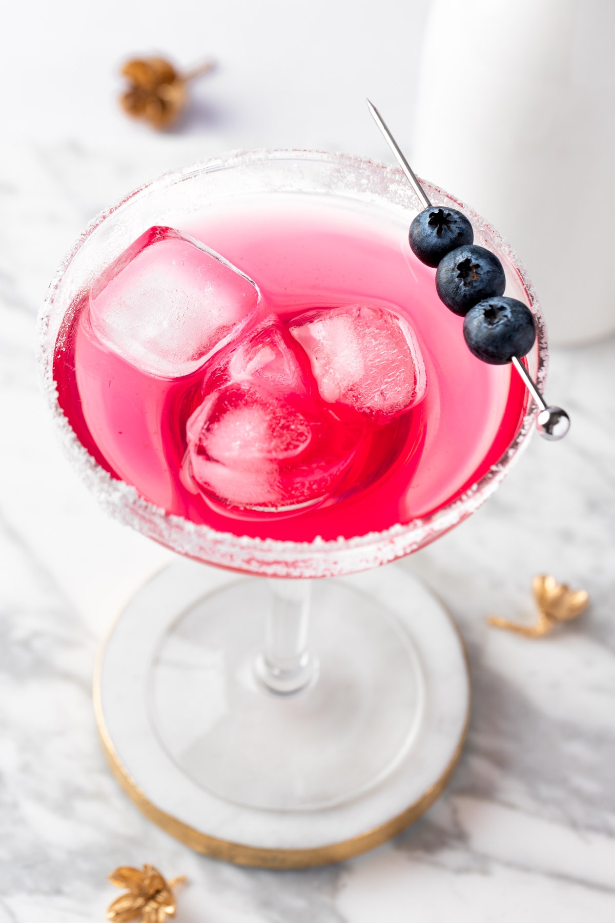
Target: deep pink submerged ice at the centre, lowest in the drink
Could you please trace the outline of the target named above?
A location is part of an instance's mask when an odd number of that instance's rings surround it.
[[[186,425],[182,481],[243,509],[298,509],[325,499],[349,467],[361,427],[314,402],[288,333],[266,321],[214,359]]]

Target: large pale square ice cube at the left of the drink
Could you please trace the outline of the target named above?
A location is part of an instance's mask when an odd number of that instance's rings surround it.
[[[90,322],[142,371],[181,378],[254,318],[257,286],[226,259],[173,228],[152,227],[92,285]]]

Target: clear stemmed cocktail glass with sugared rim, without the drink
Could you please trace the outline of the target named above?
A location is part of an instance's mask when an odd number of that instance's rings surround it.
[[[442,190],[427,188],[434,204],[459,207]],[[395,619],[382,617],[369,598],[353,596],[354,591],[338,584],[331,584],[330,592],[317,584],[317,618],[306,641],[310,579],[376,568],[429,544],[466,519],[526,447],[535,411],[526,405],[503,458],[461,497],[421,520],[335,541],[316,538],[304,543],[219,533],[167,514],[139,497],[134,487],[112,478],[79,443],[57,400],[53,352],[66,312],[148,226],[182,227],[213,204],[278,192],[344,198],[357,209],[383,207],[408,225],[420,210],[400,171],[339,154],[256,151],[165,174],[92,222],[65,259],[41,312],[40,358],[65,447],[113,516],[183,556],[274,579],[268,584],[270,594],[265,581],[219,589],[183,612],[160,641],[148,695],[157,732],[171,758],[197,785],[232,802],[257,809],[309,810],[358,797],[392,773],[418,733],[425,700],[424,677],[411,639],[399,631]],[[503,260],[507,294],[528,302],[535,313],[538,339],[527,361],[541,387],[546,337],[525,270],[502,238],[466,210],[477,242],[490,246]],[[266,642],[257,653],[259,614],[266,618]],[[225,667],[226,706],[215,720],[212,713],[204,713],[202,698],[214,687],[193,682],[195,672],[188,675],[185,662],[178,670],[171,668],[173,652],[185,653],[191,646],[209,653],[234,652]],[[196,658],[192,665],[206,661],[207,656]],[[385,731],[383,714],[389,715]],[[196,743],[195,726],[202,731]],[[354,727],[354,733],[341,733],[347,727]],[[254,757],[249,770],[230,772],[246,750]]]

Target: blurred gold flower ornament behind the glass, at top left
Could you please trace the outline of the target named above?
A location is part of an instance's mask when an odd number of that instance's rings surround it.
[[[122,67],[129,87],[120,96],[124,113],[143,119],[152,128],[168,128],[183,113],[188,102],[188,82],[213,70],[211,61],[180,74],[170,61],[153,56],[134,58]]]

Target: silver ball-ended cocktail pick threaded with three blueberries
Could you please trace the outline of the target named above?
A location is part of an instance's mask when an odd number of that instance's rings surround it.
[[[409,245],[421,262],[437,267],[436,290],[444,305],[464,318],[467,348],[490,365],[512,363],[538,407],[540,436],[563,438],[570,417],[562,407],[547,405],[520,361],[536,340],[532,312],[523,302],[503,297],[506,280],[500,260],[491,250],[474,245],[474,231],[463,212],[432,206],[382,115],[369,100],[367,105],[424,206],[410,225]]]

